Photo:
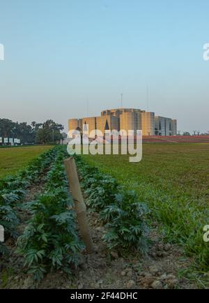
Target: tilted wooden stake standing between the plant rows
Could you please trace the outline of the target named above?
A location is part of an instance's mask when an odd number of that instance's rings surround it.
[[[86,252],[93,253],[93,242],[91,239],[91,232],[88,227],[88,220],[86,216],[86,204],[84,203],[82,190],[79,184],[75,159],[73,157],[70,157],[66,159],[64,163],[68,176],[70,191],[75,202],[75,212],[77,213],[79,230],[81,232],[84,244],[86,245]]]

